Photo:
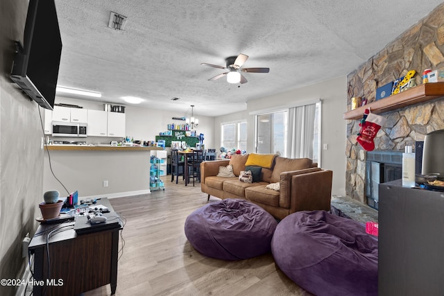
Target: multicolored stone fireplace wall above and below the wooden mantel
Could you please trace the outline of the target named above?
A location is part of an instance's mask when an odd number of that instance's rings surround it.
[[[389,29],[389,28],[388,28]],[[424,69],[444,68],[444,3],[388,44],[382,51],[348,74],[348,110],[351,98],[375,100],[377,87],[415,70],[416,84],[422,83]],[[384,98],[383,98],[384,100]],[[386,123],[375,137],[375,150],[404,150],[423,141],[425,135],[444,129],[444,98],[379,114]],[[359,120],[347,122],[345,191],[348,197],[366,203],[366,150],[357,143]]]

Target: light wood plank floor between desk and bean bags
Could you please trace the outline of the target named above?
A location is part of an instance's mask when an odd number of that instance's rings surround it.
[[[110,199],[127,219],[115,295],[311,295],[278,269],[271,253],[223,261],[194,250],[185,219],[207,204],[207,195],[200,183],[170,180],[164,177],[164,191]],[[110,285],[84,295],[110,295]]]

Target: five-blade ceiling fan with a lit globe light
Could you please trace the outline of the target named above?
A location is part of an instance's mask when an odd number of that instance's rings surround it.
[[[203,62],[201,64],[213,68],[218,69],[228,69],[228,72],[221,73],[219,75],[216,75],[208,80],[213,81],[216,79],[219,79],[223,76],[227,76],[227,81],[230,83],[245,83],[248,82],[248,80],[241,74],[241,72],[250,72],[250,73],[268,73],[270,71],[270,68],[241,68],[242,65],[246,62],[248,59],[248,55],[244,55],[243,53],[240,53],[238,56],[228,57],[225,59],[226,67],[218,66],[216,64],[207,64],[206,62]]]

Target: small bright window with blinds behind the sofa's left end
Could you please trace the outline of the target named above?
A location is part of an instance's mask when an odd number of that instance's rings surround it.
[[[247,149],[247,122],[222,123],[221,143],[227,150]]]

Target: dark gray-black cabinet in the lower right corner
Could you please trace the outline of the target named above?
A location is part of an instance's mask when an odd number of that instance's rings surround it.
[[[444,294],[444,193],[379,184],[379,295]]]

